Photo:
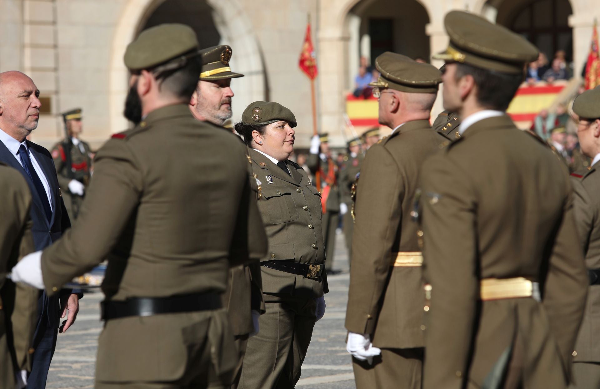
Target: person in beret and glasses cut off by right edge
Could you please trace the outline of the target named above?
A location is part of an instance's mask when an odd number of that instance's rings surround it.
[[[578,116],[577,135],[581,151],[592,158],[588,168],[571,173],[575,192],[575,224],[586,258],[589,288],[583,322],[573,351],[572,388],[600,388],[600,87],[575,98],[573,111]]]

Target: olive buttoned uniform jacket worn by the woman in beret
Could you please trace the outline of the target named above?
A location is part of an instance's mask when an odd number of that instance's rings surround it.
[[[289,176],[262,153],[250,150],[252,170],[260,182],[257,201],[269,239],[267,255],[261,261],[325,263],[321,221],[321,198],[308,174],[295,162],[286,160]],[[262,266],[264,293],[320,297],[329,291],[327,275],[312,279]]]

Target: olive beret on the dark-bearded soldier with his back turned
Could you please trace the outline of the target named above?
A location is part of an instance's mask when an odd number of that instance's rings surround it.
[[[161,71],[175,70],[184,67],[189,58],[198,55],[197,49],[196,32],[190,26],[164,23],[142,31],[127,46],[124,62],[131,71],[152,69],[162,64],[166,66]]]

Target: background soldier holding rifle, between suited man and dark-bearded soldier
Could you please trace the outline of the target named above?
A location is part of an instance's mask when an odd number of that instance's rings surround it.
[[[67,137],[52,147],[52,158],[65,207],[69,218],[74,220],[79,215],[85,189],[92,177],[92,150],[88,143],[79,139],[82,130],[81,108],[63,113],[62,119]]]

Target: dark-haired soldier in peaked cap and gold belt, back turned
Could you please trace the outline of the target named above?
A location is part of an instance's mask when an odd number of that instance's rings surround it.
[[[538,50],[463,11],[445,26],[434,58],[444,108],[463,120],[421,172],[423,388],[565,388],[589,284],[571,183],[506,114]]]

